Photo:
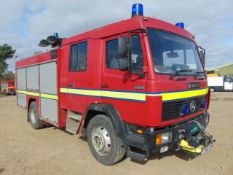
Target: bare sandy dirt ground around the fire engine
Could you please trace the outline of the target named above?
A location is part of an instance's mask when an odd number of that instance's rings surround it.
[[[15,97],[0,97],[0,174],[233,174],[233,93],[213,93],[208,131],[215,147],[189,159],[183,152],[169,152],[145,164],[129,158],[103,166],[91,155],[87,142],[78,136],[49,127],[34,130],[26,111]]]

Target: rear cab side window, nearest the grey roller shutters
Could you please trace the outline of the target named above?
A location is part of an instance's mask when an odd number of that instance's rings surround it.
[[[87,69],[87,41],[71,46],[70,71],[85,71]]]

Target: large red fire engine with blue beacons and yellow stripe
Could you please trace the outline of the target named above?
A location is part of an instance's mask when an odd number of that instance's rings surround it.
[[[183,23],[144,17],[134,4],[130,19],[39,45],[53,49],[16,63],[17,103],[33,128],[83,135],[106,165],[213,146],[205,52]]]

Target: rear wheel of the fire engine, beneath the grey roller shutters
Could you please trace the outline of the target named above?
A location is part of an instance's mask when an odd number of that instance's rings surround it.
[[[29,121],[31,123],[31,126],[34,129],[40,129],[44,127],[43,121],[39,119],[39,112],[36,102],[31,102],[29,111],[28,111],[28,117]]]

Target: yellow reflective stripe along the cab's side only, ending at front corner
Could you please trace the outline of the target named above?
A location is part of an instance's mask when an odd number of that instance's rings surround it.
[[[124,100],[146,101],[146,94],[134,92],[118,92],[118,91],[100,91],[86,89],[68,89],[60,88],[60,92],[67,94],[87,95],[95,97],[118,98]]]

